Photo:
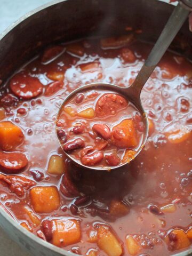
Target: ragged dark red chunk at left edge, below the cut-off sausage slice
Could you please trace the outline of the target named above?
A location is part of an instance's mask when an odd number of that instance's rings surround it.
[[[12,193],[15,193],[19,197],[24,196],[25,192],[30,187],[36,185],[36,182],[34,182],[33,180],[17,175],[0,174],[0,181],[1,180],[9,186],[9,189]]]

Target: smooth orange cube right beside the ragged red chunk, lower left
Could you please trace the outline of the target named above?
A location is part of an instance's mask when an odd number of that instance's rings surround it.
[[[57,187],[34,187],[30,190],[31,203],[37,213],[50,213],[60,206]]]

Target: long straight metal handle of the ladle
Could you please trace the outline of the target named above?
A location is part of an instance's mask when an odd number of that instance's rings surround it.
[[[191,1],[192,6],[192,0],[189,1]],[[173,41],[175,35],[177,35],[181,26],[187,19],[189,12],[189,9],[187,9],[184,5],[181,5],[180,3],[174,8],[161,35],[159,36],[156,44],[154,45],[147,60],[145,61],[137,77],[135,78],[135,81],[132,84],[132,88],[134,88],[134,90],[136,89],[139,95],[142,87],[147,82],[157,63],[159,62],[159,60],[161,60],[163,54]]]

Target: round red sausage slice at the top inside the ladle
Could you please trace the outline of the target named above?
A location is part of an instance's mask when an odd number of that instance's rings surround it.
[[[117,111],[125,108],[128,102],[121,95],[116,93],[103,94],[95,107],[95,113],[98,117],[115,115]]]

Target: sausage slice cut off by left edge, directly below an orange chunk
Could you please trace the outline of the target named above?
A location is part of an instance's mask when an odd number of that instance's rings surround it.
[[[28,160],[23,153],[0,152],[0,169],[6,173],[20,172],[28,165]]]

